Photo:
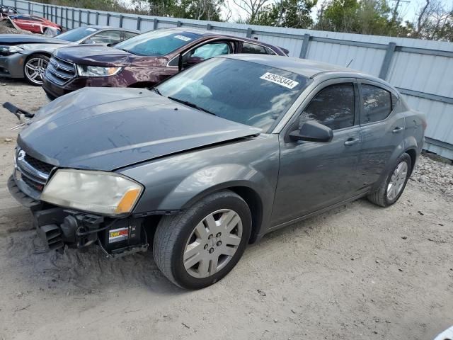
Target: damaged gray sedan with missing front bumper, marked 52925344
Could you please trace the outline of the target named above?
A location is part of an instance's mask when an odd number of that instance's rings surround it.
[[[152,242],[184,288],[275,229],[364,196],[396,203],[426,128],[381,79],[270,55],[215,57],[151,90],[80,89],[29,122],[8,188],[49,249]]]

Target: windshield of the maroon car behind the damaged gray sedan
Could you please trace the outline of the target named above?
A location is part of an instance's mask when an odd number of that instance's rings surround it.
[[[134,55],[159,57],[177,50],[189,42],[200,38],[201,35],[181,32],[178,30],[153,30],[149,33],[137,35],[119,44],[115,48],[125,50]]]

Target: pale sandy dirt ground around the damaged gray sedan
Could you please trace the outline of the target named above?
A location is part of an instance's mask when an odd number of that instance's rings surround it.
[[[0,79],[4,101],[46,99]],[[0,108],[0,339],[415,340],[453,325],[453,197],[429,183],[388,209],[358,200],[273,232],[224,280],[186,291],[150,252],[42,252],[6,189],[15,124]]]

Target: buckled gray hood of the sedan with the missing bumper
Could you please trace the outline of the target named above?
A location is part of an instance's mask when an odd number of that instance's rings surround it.
[[[56,166],[112,171],[259,133],[146,89],[84,88],[41,108],[18,145]]]

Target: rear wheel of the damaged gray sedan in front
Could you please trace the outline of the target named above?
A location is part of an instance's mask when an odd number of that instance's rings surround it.
[[[368,200],[381,207],[394,204],[406,188],[406,183],[411,176],[411,166],[411,157],[406,153],[401,154],[377,191],[369,194]]]

